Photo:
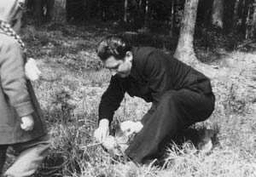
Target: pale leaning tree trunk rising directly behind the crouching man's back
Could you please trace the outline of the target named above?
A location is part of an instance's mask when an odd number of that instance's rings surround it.
[[[174,54],[177,59],[189,65],[199,62],[195,57],[193,47],[197,6],[198,0],[186,0],[177,49]]]

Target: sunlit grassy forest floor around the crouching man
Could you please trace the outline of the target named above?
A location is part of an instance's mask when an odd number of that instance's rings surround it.
[[[28,56],[43,72],[33,85],[52,136],[49,156],[35,176],[256,176],[256,53],[219,49],[216,56],[196,50],[217,72],[225,71],[212,80],[215,111],[196,126],[218,131],[218,144],[210,154],[185,143],[170,149],[164,167],[135,167],[97,146],[92,136],[110,73],[102,68],[95,47],[109,33],[97,26],[23,28]],[[115,119],[139,120],[149,106],[125,95]]]

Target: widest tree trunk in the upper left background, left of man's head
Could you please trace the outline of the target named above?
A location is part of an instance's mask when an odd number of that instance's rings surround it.
[[[55,0],[52,21],[55,23],[67,22],[66,0]]]

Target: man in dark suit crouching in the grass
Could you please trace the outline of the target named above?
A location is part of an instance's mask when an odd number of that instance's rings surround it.
[[[96,140],[108,137],[125,92],[152,102],[140,122],[123,124],[137,133],[125,150],[134,163],[158,157],[163,140],[212,114],[215,97],[210,80],[174,57],[154,48],[132,47],[119,36],[102,39],[96,52],[113,75],[99,106]]]

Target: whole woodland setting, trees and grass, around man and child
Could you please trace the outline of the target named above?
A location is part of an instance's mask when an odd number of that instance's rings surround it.
[[[43,76],[33,86],[52,147],[35,176],[256,176],[255,0],[27,0],[21,37]],[[172,146],[163,167],[135,167],[96,145],[97,108],[110,73],[96,57],[109,34],[153,46],[212,79],[216,106],[194,128],[214,149]],[[150,104],[125,95],[114,119],[139,120]],[[113,123],[114,124],[114,123]],[[9,163],[14,160],[9,150]]]

